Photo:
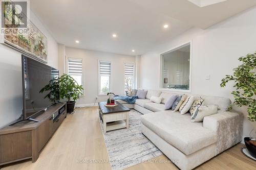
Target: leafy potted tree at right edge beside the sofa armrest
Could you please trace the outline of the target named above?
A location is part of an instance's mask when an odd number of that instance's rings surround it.
[[[243,62],[237,68],[234,68],[233,75],[226,75],[221,81],[221,87],[225,87],[229,81],[234,81],[233,87],[236,90],[231,94],[234,96],[234,102],[229,106],[247,106],[247,118],[254,122],[256,120],[256,52],[240,57],[239,61]],[[256,142],[252,138],[245,137],[245,145],[254,158],[256,158]]]

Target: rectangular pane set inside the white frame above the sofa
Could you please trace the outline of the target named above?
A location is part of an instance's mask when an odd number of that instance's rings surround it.
[[[161,63],[161,88],[190,92],[191,42],[162,54]]]

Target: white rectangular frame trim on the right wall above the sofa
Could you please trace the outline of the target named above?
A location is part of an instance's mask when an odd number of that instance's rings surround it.
[[[178,50],[179,48],[182,48],[184,46],[187,46],[190,44],[190,61],[189,61],[189,89],[188,90],[182,90],[182,89],[170,89],[170,88],[163,88],[163,55],[170,53],[170,52],[174,52],[176,50]],[[178,45],[174,48],[172,48],[172,50],[169,50],[167,52],[164,52],[162,54],[160,54],[160,90],[166,90],[166,91],[174,91],[174,92],[186,92],[186,93],[191,93],[191,73],[192,73],[192,40],[185,42],[181,45]]]

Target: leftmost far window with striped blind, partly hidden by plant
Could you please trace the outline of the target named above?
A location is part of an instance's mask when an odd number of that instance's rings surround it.
[[[82,81],[82,59],[68,58],[68,75],[83,86]]]

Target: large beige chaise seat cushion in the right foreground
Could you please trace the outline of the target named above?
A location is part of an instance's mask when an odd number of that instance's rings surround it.
[[[202,126],[191,123],[190,114],[162,111],[141,116],[141,122],[161,138],[186,155],[190,155],[212,143],[217,142],[217,135]]]

